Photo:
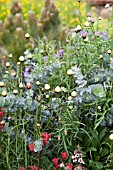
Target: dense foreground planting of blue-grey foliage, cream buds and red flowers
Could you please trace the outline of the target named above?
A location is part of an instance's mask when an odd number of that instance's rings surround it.
[[[0,170],[113,169],[113,22],[101,20],[80,15],[63,41],[36,36],[0,63]]]

